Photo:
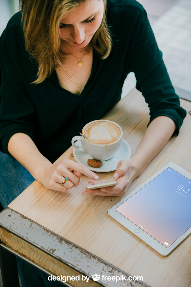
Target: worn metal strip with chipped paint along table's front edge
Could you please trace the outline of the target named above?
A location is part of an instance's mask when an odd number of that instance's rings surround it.
[[[41,226],[37,222],[34,222],[30,218],[25,217],[10,207],[6,207],[0,213],[0,227],[66,264],[75,271],[86,276],[90,276],[90,278],[93,275],[90,274],[90,267],[93,267],[97,274],[104,272],[104,274],[107,274],[107,276],[120,276],[122,274],[126,277],[131,276],[130,274],[120,270],[98,256],[72,243],[66,238],[59,236],[44,226]],[[28,229],[30,229],[30,233],[27,232]],[[42,236],[43,246],[41,245]],[[62,254],[65,259],[60,257],[60,254]],[[97,283],[103,285],[105,282],[99,280]],[[111,283],[115,282],[110,281],[110,284]],[[127,281],[118,281],[117,283],[118,286],[127,286],[123,284],[127,283]],[[110,286],[113,286],[113,284]],[[149,287],[149,285],[146,285],[142,281],[138,280],[131,281],[131,286]]]

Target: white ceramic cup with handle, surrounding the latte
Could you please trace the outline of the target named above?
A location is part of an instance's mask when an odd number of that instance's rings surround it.
[[[83,131],[91,123],[99,122],[99,121],[107,121],[107,122],[110,122],[110,123],[113,123],[114,125],[116,125],[120,129],[120,132],[121,132],[120,137],[116,141],[114,141],[113,143],[110,143],[110,144],[95,144],[95,143],[88,141],[83,136],[74,136],[72,138],[72,145],[77,151],[87,152],[93,158],[104,161],[104,160],[108,160],[108,159],[112,158],[114,156],[114,154],[118,151],[118,149],[121,145],[123,131],[122,131],[121,127],[113,121],[96,120],[96,121],[91,121],[88,124],[86,124],[83,127],[81,133],[84,134]],[[81,147],[79,147],[75,144],[75,142],[77,140],[81,141]]]

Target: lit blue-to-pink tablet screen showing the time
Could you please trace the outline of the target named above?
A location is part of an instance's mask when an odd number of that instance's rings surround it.
[[[168,167],[116,211],[168,248],[191,226],[191,181]]]

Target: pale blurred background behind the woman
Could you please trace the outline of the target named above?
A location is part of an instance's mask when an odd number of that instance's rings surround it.
[[[147,11],[175,91],[181,98],[191,101],[191,0],[139,2]],[[18,10],[19,0],[0,0],[0,35]],[[125,80],[122,97],[135,85],[134,73],[130,73]]]

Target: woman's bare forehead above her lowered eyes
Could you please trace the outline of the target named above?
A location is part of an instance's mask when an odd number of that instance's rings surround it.
[[[69,10],[67,14],[63,14],[60,17],[59,22],[64,24],[80,23],[97,13],[102,6],[103,0],[81,1],[74,8]]]

